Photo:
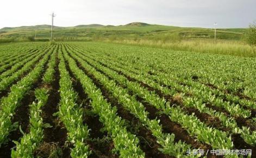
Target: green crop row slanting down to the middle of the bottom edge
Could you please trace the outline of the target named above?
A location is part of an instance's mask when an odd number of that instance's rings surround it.
[[[88,93],[88,96],[91,98],[93,111],[99,115],[99,120],[104,124],[109,134],[111,134],[115,144],[115,150],[118,151],[122,157],[144,157],[145,154],[138,147],[138,138],[127,132],[126,128],[123,127],[121,117],[116,116],[117,109],[112,108],[111,105],[107,103],[101,91],[97,89],[91,79],[78,68],[76,62],[66,55],[66,52],[65,58],[68,60],[71,71],[82,83],[85,93]]]

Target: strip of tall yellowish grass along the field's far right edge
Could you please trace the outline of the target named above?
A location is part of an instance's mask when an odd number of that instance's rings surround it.
[[[129,45],[167,48],[189,52],[226,54],[235,56],[256,57],[256,47],[242,41],[217,40],[105,40],[106,42],[125,43]]]

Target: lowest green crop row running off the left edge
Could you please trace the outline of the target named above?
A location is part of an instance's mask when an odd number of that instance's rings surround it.
[[[32,89],[32,85],[39,80],[51,53],[52,52],[48,52],[44,55],[35,68],[26,75],[26,77],[18,81],[17,84],[11,86],[8,96],[2,98],[0,105],[0,147],[3,143],[8,141],[7,136],[9,133],[17,128],[17,122],[13,123],[11,121],[15,110],[20,105],[24,95]]]

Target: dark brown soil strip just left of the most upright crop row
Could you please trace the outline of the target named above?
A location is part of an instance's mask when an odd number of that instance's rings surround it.
[[[58,55],[57,55],[58,56]],[[51,85],[43,84],[49,90],[49,97],[45,106],[42,107],[42,118],[44,123],[49,123],[52,128],[43,129],[43,143],[42,146],[35,151],[36,156],[48,157],[52,153],[57,152],[58,156],[70,157],[70,149],[65,146],[67,131],[65,125],[61,123],[58,116],[53,116],[55,112],[59,111],[59,60],[57,66],[54,68],[54,81]],[[46,148],[47,147],[47,148]],[[46,150],[47,149],[47,150]]]

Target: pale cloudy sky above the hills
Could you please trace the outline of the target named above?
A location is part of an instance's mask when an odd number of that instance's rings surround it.
[[[180,27],[245,28],[256,20],[255,0],[8,0],[0,1],[0,28],[51,24],[120,25],[145,22]]]

